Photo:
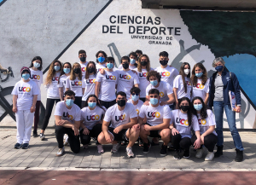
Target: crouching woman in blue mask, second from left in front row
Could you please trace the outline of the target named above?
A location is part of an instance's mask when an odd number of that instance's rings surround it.
[[[97,138],[102,132],[102,121],[106,108],[99,104],[96,95],[89,95],[85,107],[81,110],[80,140],[84,148],[88,148],[90,138]],[[96,141],[98,153],[104,153],[102,145]]]

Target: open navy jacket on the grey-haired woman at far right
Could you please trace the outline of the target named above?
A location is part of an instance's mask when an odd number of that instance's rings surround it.
[[[209,83],[209,101],[208,106],[213,107],[213,99],[214,99],[214,93],[215,93],[215,78],[216,78],[217,72],[214,72],[212,74],[212,77],[210,78]],[[222,75],[222,82],[224,84],[223,89],[223,96],[224,96],[224,105],[230,105],[230,96],[229,91],[235,92],[236,95],[236,105],[241,105],[241,94],[240,94],[240,85],[238,82],[238,79],[236,78],[236,74],[231,72],[231,80],[230,80],[230,72],[223,71]]]

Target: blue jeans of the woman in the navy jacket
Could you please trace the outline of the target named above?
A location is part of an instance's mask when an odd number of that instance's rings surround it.
[[[223,113],[225,110],[235,147],[238,150],[243,151],[243,147],[241,144],[241,137],[238,133],[238,130],[236,129],[236,112],[231,110],[230,105],[224,105],[224,101],[213,101],[213,109],[214,109],[215,120],[216,120],[216,132],[218,134],[217,146],[222,146],[224,143]]]

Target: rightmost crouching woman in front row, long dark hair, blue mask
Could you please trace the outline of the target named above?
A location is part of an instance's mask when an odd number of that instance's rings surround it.
[[[200,134],[201,134],[201,147],[197,149],[195,157],[201,158],[203,155],[203,147],[207,147],[208,153],[205,160],[212,160],[214,158],[213,149],[217,143],[217,133],[215,132],[215,118],[211,110],[207,109],[201,97],[195,96],[192,103],[192,113],[197,117]],[[197,137],[192,136],[191,142],[195,143]]]

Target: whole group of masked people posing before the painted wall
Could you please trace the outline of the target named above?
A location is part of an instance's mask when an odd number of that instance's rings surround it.
[[[225,70],[221,57],[212,62],[217,72],[208,79],[201,63],[191,69],[188,62],[183,62],[178,72],[168,65],[166,51],[159,56],[160,66],[155,69],[141,50],[123,56],[118,68],[113,57],[102,50],[96,53],[96,62],[86,61],[84,50],[79,50],[79,63],[53,61],[44,82],[47,101],[40,139],[45,139],[44,131],[56,104],[57,156],[65,153],[67,143],[73,153],[79,153],[80,142],[88,148],[94,138],[98,153],[104,153],[104,144],[112,143],[111,152],[117,153],[120,145],[126,143],[126,153],[131,158],[135,142],[143,147],[143,153],[148,153],[160,138],[161,156],[166,156],[171,142],[175,159],[189,158],[192,145],[196,158],[202,158],[206,147],[205,160],[212,160],[223,155],[225,110],[236,146],[235,160],[242,161],[243,147],[236,129],[236,113],[241,112],[236,75]],[[28,148],[33,122],[33,136],[38,136],[42,67],[42,58],[34,57],[30,67],[21,68],[21,80],[12,92],[16,149]],[[230,106],[230,90],[236,95],[236,111]],[[152,142],[148,136],[153,137]],[[213,153],[215,145],[217,152]]]

